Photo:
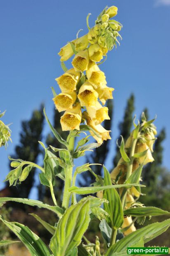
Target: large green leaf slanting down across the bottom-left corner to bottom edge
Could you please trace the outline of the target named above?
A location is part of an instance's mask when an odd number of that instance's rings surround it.
[[[23,242],[32,256],[52,256],[45,243],[28,227],[17,222],[8,222],[2,216],[0,220]]]

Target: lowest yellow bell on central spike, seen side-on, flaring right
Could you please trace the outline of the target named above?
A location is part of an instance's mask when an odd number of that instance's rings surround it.
[[[99,135],[98,137],[96,134],[94,134],[93,131],[90,130],[90,134],[95,140],[97,140],[97,143],[99,145],[101,145],[104,140],[111,140],[111,137],[109,135],[109,132],[111,132],[111,130],[106,130],[101,124],[95,125],[94,121],[90,118],[86,111],[83,112],[83,118],[87,120],[87,125],[92,127]]]

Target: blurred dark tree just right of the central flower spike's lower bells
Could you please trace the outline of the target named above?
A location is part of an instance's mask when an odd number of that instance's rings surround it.
[[[112,100],[107,101],[107,107],[109,109],[109,116],[111,120],[105,120],[103,126],[106,130],[111,130],[111,124],[113,119],[112,117],[113,101]],[[109,152],[109,140],[105,140],[101,147],[94,149],[94,151],[91,154],[89,154],[89,156],[87,156],[87,163],[89,162],[91,164],[94,163],[94,164],[103,165],[106,160],[108,152]],[[103,167],[101,165],[94,165],[90,167],[92,168],[94,173],[96,173],[97,175],[102,175]],[[80,185],[89,186],[90,184],[94,183],[94,181],[95,181],[94,175],[92,175],[89,172],[88,175],[83,174],[83,182],[80,182]]]

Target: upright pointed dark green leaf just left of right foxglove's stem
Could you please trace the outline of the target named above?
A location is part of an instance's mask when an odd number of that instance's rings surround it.
[[[104,168],[104,186],[112,185],[109,171]],[[121,227],[124,221],[123,209],[118,192],[115,188],[104,190],[103,197],[109,201],[109,204],[104,203],[104,210],[109,213],[109,217],[106,217],[107,223],[115,229]]]

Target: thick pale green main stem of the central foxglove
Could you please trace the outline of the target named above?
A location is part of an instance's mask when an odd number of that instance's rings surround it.
[[[68,135],[67,141],[68,141],[68,150],[70,151],[71,155],[74,152],[74,140],[75,140],[75,137],[71,136],[71,132],[70,132],[70,134]],[[68,189],[71,187],[72,172],[73,172],[73,166],[67,166],[66,168],[64,168],[65,184],[64,184],[62,207],[64,207],[65,209],[68,208],[69,201],[70,201],[70,192],[68,192]]]

